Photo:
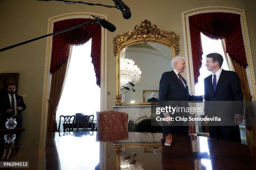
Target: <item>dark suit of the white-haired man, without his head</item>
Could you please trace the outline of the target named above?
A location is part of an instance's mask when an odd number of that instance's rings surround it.
[[[164,72],[160,83],[159,83],[159,101],[201,101],[202,96],[189,95],[189,89],[187,86],[187,81],[182,77],[183,82],[186,87],[179,81],[174,70],[169,72]],[[177,102],[175,102],[177,103]],[[183,105],[183,107],[188,107],[184,103],[179,103],[178,105]],[[178,106],[178,107],[179,107]],[[176,107],[176,105],[172,106]],[[186,114],[188,117],[188,114]],[[161,117],[164,117],[161,114]],[[182,134],[188,135],[188,126],[167,126],[166,122],[163,122],[163,134]],[[172,122],[171,122],[172,125]]]

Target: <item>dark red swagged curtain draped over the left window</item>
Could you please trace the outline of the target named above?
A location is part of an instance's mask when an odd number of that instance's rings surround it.
[[[69,19],[54,23],[54,32],[93,21],[94,19]],[[94,65],[97,85],[100,87],[100,55],[101,55],[101,26],[98,23],[84,25],[53,36],[51,67],[53,73],[68,60],[69,45],[83,45],[92,38],[92,64]]]

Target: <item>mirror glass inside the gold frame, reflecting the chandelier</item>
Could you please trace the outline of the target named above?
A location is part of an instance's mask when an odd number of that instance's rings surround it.
[[[162,73],[172,70],[172,58],[169,47],[154,42],[139,42],[123,48],[120,53],[122,103],[142,103],[153,97],[151,93],[159,90]],[[145,90],[148,90],[145,94],[147,100],[143,101]],[[158,98],[157,94],[155,98]]]

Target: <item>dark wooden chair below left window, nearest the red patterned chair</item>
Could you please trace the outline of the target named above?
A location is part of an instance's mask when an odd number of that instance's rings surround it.
[[[94,115],[79,115],[77,117],[77,132],[79,128],[82,128],[82,131],[88,130],[88,128],[91,128],[93,131],[93,119]]]

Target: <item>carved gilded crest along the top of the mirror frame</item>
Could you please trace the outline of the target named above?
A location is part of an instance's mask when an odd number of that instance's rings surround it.
[[[114,39],[114,54],[126,45],[133,42],[148,42],[157,41],[166,42],[172,45],[175,50],[175,54],[179,53],[179,35],[176,35],[172,31],[160,30],[156,25],[151,24],[150,21],[144,20],[140,25],[136,25],[134,30],[126,33],[118,34]]]

